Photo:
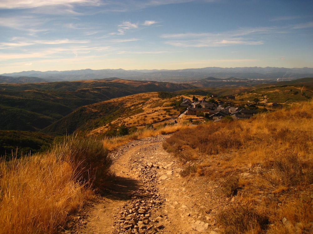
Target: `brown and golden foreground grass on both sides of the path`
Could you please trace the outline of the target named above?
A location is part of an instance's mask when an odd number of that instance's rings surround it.
[[[312,102],[301,102],[249,120],[66,137],[45,154],[1,161],[0,233],[57,233],[95,187],[106,186],[108,150],[169,133],[164,148],[181,159],[181,175],[215,180],[229,197],[217,220],[224,233],[312,233],[312,112]]]

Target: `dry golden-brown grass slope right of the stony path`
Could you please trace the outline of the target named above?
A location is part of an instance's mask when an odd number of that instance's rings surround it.
[[[163,146],[186,163],[183,173],[193,165],[192,175],[216,181],[221,197],[233,197],[218,217],[224,233],[312,233],[312,113],[312,102],[304,102],[208,123],[182,129]]]

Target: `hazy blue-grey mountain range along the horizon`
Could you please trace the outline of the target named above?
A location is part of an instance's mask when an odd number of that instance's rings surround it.
[[[11,78],[10,78],[11,77]],[[242,79],[280,79],[293,80],[304,77],[313,77],[313,68],[278,68],[278,67],[206,67],[182,70],[72,70],[72,71],[22,71],[4,73],[0,76],[0,83],[25,83],[43,81],[72,81],[72,80],[94,80],[109,79],[112,77],[130,80],[155,80],[155,81],[191,81],[192,79],[203,79],[215,77],[226,79],[236,77]],[[14,79],[13,79],[14,78]]]

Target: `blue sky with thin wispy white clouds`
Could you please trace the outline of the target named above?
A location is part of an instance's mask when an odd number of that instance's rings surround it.
[[[0,74],[313,67],[313,1],[0,0]]]

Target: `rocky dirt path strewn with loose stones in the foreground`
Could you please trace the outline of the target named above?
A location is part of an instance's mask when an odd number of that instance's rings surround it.
[[[136,140],[112,152],[112,186],[65,233],[218,233],[217,186],[199,176],[182,178],[182,163],[162,147],[168,137]]]

